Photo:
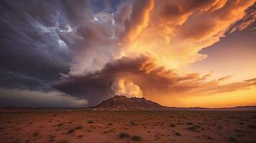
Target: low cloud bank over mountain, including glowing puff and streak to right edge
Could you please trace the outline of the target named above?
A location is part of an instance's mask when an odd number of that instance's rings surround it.
[[[150,56],[124,56],[105,64],[103,69],[85,75],[63,75],[53,86],[62,92],[88,99],[97,104],[114,94],[148,99],[158,96],[181,97],[190,94],[230,92],[255,86],[255,80],[222,85],[219,80],[209,80],[210,74],[178,74],[158,66]]]

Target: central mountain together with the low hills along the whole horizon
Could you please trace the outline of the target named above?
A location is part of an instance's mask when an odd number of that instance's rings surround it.
[[[165,107],[145,98],[125,97],[115,95],[95,107],[0,107],[0,112],[19,112],[22,110],[165,110],[165,111],[256,111],[256,106],[226,107],[226,108],[202,108],[202,107]]]

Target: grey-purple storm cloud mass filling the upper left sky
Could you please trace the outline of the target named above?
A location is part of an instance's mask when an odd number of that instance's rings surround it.
[[[99,68],[113,53],[110,14],[95,21],[88,1],[1,1],[0,8],[0,87],[50,91],[60,73]]]

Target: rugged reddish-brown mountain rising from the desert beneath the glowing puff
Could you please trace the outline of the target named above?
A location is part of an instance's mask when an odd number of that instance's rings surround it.
[[[169,109],[169,107],[163,107],[161,104],[151,102],[145,98],[137,97],[125,97],[118,96],[107,99],[93,109],[107,109],[107,110],[158,110]]]

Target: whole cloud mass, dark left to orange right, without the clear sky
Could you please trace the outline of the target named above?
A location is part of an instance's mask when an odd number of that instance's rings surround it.
[[[98,3],[2,1],[0,87],[58,89],[89,106],[113,94],[156,99],[255,86],[184,71],[207,57],[199,51],[255,21],[254,0]]]

